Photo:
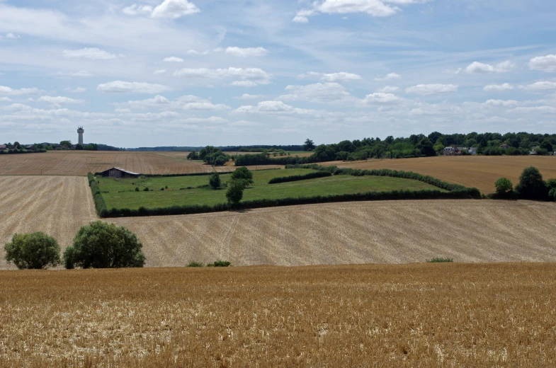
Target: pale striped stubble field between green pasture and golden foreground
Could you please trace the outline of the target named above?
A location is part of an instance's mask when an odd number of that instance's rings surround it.
[[[545,202],[408,200],[108,221],[138,234],[150,267],[556,262],[555,213]]]

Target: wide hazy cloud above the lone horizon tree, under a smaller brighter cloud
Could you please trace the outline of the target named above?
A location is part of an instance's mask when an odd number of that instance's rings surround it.
[[[345,102],[351,98],[350,93],[344,86],[337,83],[317,83],[307,86],[287,86],[287,95],[277,98],[277,100],[303,100],[313,103],[338,103]]]

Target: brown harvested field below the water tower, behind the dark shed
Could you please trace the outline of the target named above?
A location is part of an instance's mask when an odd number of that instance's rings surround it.
[[[166,152],[48,151],[45,154],[0,155],[0,176],[85,176],[89,172],[96,173],[113,167],[121,167],[142,174],[207,173],[212,171],[210,165],[204,165],[198,161],[188,161],[181,156],[172,156]],[[223,166],[217,168],[217,171],[233,171],[234,169],[234,166]]]

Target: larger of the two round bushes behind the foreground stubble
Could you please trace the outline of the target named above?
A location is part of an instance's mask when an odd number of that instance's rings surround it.
[[[129,229],[107,222],[82,226],[64,252],[66,268],[143,267],[142,243]]]

